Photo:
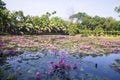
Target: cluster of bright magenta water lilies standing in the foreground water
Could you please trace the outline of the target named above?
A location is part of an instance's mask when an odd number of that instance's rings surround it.
[[[71,80],[70,70],[77,69],[76,62],[73,64],[73,68],[71,68],[71,65],[66,63],[65,58],[61,58],[58,63],[52,61],[50,64],[52,65],[52,67],[49,69],[50,75],[57,76],[60,78],[60,80]]]

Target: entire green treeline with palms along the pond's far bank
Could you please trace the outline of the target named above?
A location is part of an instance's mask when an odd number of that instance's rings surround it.
[[[22,11],[10,12],[5,5],[0,0],[0,34],[120,35],[120,21],[112,17],[91,17],[79,12],[65,21],[54,16],[56,11],[42,16],[25,16]]]

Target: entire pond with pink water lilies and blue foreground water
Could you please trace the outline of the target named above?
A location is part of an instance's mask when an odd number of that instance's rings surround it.
[[[0,36],[0,80],[120,80],[120,38]]]

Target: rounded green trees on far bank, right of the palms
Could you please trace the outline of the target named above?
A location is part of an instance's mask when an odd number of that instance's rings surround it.
[[[71,35],[120,35],[120,21],[112,17],[91,17],[86,13],[77,13],[70,16],[71,22],[68,32]]]

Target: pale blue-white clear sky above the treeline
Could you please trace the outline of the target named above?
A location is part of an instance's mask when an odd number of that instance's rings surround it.
[[[113,17],[120,20],[114,11],[120,0],[3,0],[10,11],[22,10],[25,15],[41,16],[56,11],[55,16],[68,19],[70,15],[85,12],[90,16]]]

